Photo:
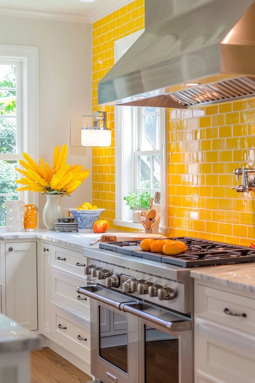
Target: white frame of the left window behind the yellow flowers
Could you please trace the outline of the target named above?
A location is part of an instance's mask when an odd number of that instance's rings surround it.
[[[28,153],[32,159],[38,161],[38,48],[30,46],[15,46],[0,44],[0,61],[19,62],[21,72],[21,100],[23,108],[20,108],[20,121],[23,137],[17,134],[21,153],[0,154],[0,160],[18,160],[22,158],[22,152]],[[18,105],[17,105],[18,109]],[[18,110],[17,110],[18,113]],[[17,129],[18,131],[18,129]],[[18,141],[17,141],[18,142]],[[12,158],[13,157],[13,158]],[[33,203],[38,206],[38,193],[25,191],[20,194],[25,203]],[[4,228],[4,226],[2,226]]]

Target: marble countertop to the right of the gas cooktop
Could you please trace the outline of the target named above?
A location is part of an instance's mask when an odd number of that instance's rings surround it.
[[[255,262],[214,267],[198,267],[194,270],[190,270],[190,276],[203,281],[255,293]]]

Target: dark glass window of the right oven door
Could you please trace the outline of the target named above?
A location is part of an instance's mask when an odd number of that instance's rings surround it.
[[[179,382],[179,340],[144,325],[145,383]]]

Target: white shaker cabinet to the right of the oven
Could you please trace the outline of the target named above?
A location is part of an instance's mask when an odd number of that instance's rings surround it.
[[[255,296],[195,279],[195,383],[254,383]]]

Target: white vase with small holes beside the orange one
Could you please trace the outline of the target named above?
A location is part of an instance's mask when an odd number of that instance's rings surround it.
[[[25,203],[23,201],[5,201],[6,226],[5,231],[25,231],[24,214]]]

